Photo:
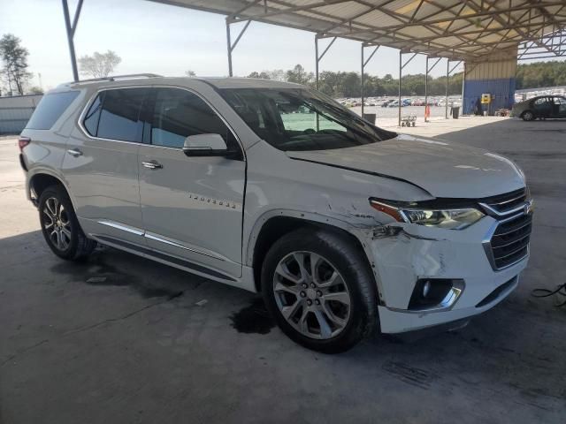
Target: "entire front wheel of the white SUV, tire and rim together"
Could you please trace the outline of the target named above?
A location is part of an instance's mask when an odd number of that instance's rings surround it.
[[[363,252],[333,232],[304,229],[279,239],[265,257],[262,292],[279,328],[315,351],[347,351],[378,322]]]

